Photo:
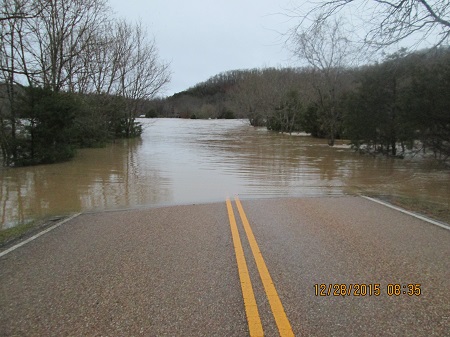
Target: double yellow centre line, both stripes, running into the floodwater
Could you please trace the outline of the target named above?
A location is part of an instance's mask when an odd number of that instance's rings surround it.
[[[252,228],[250,227],[247,216],[245,215],[244,209],[242,208],[242,204],[238,197],[235,197],[235,201],[280,336],[294,336],[291,324],[289,323],[289,320],[283,308],[283,304],[281,303],[280,297],[278,296],[278,293],[275,289],[275,285],[273,284],[272,277],[270,276],[269,270],[267,269],[266,263],[264,262],[264,258],[261,254],[261,251],[259,250],[258,243],[256,242],[255,236],[253,235]],[[245,260],[244,250],[242,248],[239,230],[237,228],[233,206],[231,205],[230,199],[226,200],[226,204],[250,336],[264,336],[261,318],[259,316],[255,295],[253,293],[250,274],[248,272],[247,262]]]

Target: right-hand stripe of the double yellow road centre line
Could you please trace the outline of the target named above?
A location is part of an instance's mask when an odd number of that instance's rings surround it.
[[[280,297],[278,296],[275,285],[273,284],[272,277],[270,276],[269,270],[267,269],[264,258],[259,250],[258,243],[256,242],[255,236],[253,235],[252,228],[248,222],[247,216],[245,215],[244,209],[238,197],[235,197],[236,205],[241,216],[242,224],[244,225],[245,233],[247,234],[248,242],[255,258],[256,266],[258,267],[259,275],[261,276],[261,281],[266,291],[267,299],[269,300],[270,308],[272,309],[273,317],[277,323],[278,332],[281,337],[291,337],[294,336],[289,319],[284,311],[283,304],[281,303]]]

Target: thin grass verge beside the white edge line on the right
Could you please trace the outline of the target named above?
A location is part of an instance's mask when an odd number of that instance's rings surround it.
[[[425,215],[437,221],[450,224],[450,204],[424,200],[420,197],[405,197],[398,195],[370,195],[373,198],[386,201],[394,206]]]

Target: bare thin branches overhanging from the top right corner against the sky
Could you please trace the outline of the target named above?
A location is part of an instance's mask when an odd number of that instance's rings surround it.
[[[312,9],[306,12],[302,9],[311,6]],[[377,48],[410,37],[415,39],[410,43],[429,40],[435,46],[448,43],[450,39],[448,0],[305,1],[292,15],[300,17],[298,27],[301,27],[311,18],[320,17],[320,20],[327,21],[339,14],[350,14],[356,21],[362,21],[357,28],[364,32],[363,41]]]

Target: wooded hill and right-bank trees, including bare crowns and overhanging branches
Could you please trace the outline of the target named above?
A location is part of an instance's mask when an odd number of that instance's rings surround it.
[[[303,68],[219,74],[154,102],[152,115],[245,117],[274,131],[309,132],[331,146],[347,138],[359,150],[421,150],[448,160],[448,1],[300,1],[286,15],[297,22],[287,46]],[[407,53],[398,46],[408,39],[416,41],[413,50],[433,48]],[[398,52],[382,61],[367,62],[394,47]]]

